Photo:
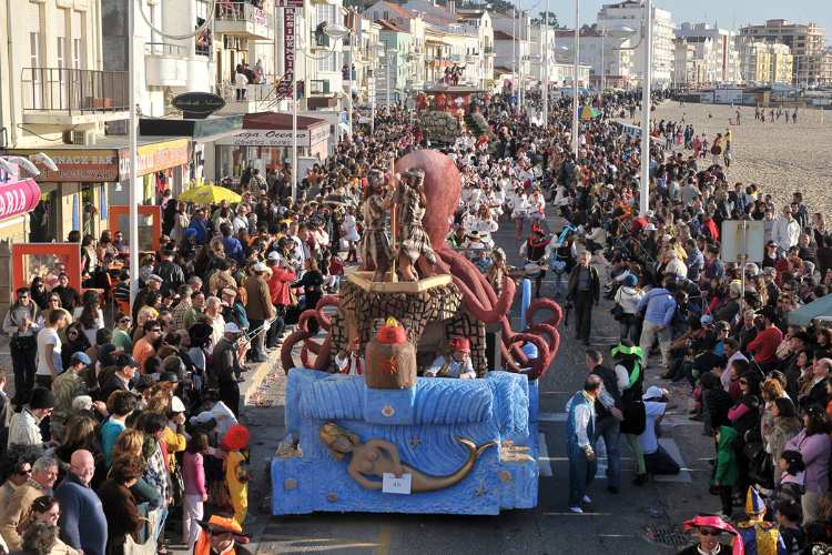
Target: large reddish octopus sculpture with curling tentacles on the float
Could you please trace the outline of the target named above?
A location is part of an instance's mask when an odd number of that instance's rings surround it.
[[[463,295],[463,309],[474,320],[500,325],[500,353],[503,360],[507,361],[507,370],[531,369],[528,373],[529,379],[540,377],[546,373],[560,346],[558,325],[564,315],[560,305],[549,299],[532,301],[526,311],[525,329],[520,332],[514,331],[508,317],[515,296],[514,281],[508,276],[504,278],[503,291],[497,295],[483,273],[464,254],[450,249],[445,241],[461,194],[461,181],[455,163],[434,150],[415,151],[396,161],[396,172],[412,168],[425,171],[424,186],[428,210],[423,224],[439,259],[433,271],[451,276]],[[281,362],[286,372],[296,366],[293,353],[298,343],[304,367],[325,370],[329,366],[334,355],[333,323],[326,310],[338,305],[337,296],[325,296],[315,309],[301,314],[297,329],[284,341],[281,350]],[[312,319],[326,332],[323,342],[312,337],[308,326]],[[521,347],[526,343],[537,347],[535,359],[530,360],[522,351]]]

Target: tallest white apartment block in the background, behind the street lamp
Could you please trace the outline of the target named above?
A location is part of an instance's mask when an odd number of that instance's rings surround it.
[[[652,83],[670,87],[673,75],[673,19],[667,10],[652,8]],[[598,11],[599,29],[628,27],[636,34],[630,39],[638,48],[632,52],[632,77],[641,80],[645,74],[645,43],[641,40],[645,23],[645,6],[640,0],[605,4]]]

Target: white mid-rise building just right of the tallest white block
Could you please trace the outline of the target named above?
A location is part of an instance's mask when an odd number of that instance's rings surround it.
[[[676,37],[693,47],[693,59],[704,68],[704,83],[714,85],[741,81],[740,53],[732,31],[709,23],[686,22],[676,30]]]

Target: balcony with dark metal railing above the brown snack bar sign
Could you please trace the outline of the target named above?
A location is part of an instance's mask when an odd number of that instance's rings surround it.
[[[126,71],[23,68],[23,123],[80,125],[129,117]]]

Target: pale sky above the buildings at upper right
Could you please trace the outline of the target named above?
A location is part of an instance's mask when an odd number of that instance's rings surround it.
[[[519,0],[522,8],[537,13],[546,0]],[[561,24],[575,23],[572,0],[548,0]],[[580,22],[593,23],[600,7],[612,0],[580,0]],[[678,24],[683,21],[717,21],[719,27],[739,29],[748,23],[763,23],[767,19],[788,19],[798,23],[815,22],[826,31],[826,43],[832,42],[832,2],[830,0],[653,0],[657,8],[672,13]]]

